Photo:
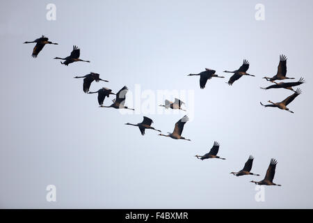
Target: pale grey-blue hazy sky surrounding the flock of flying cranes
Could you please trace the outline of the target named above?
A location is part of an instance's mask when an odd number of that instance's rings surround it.
[[[56,4],[56,21],[46,6]],[[265,20],[255,20],[255,5]],[[3,1],[1,45],[1,208],[313,208],[312,193],[312,1]],[[47,45],[31,58],[26,40],[45,35]],[[62,66],[72,45],[91,63]],[[263,91],[261,77],[273,76],[285,54],[287,75],[304,77],[303,94],[289,108],[264,108],[288,90]],[[233,86],[225,82],[243,59],[249,73]],[[226,79],[199,88],[204,68]],[[99,72],[114,92],[135,84],[141,90],[194,90],[194,117],[173,140],[124,123],[145,114],[100,109],[96,95],[82,91],[76,75]],[[134,93],[134,92],[133,92]],[[105,100],[105,104],[111,102]],[[188,108],[188,101],[186,101]],[[179,114],[147,114],[154,127],[171,132]],[[195,154],[220,143],[227,160],[197,160]],[[239,171],[248,155],[260,177]],[[255,185],[271,160],[275,183],[265,202]],[[56,185],[57,201],[45,188]]]

